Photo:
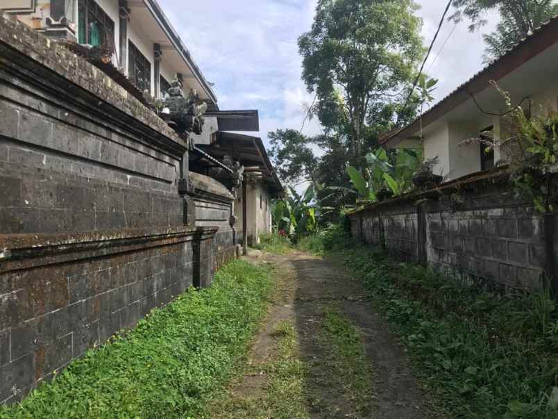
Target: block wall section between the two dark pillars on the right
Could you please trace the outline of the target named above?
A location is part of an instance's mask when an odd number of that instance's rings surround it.
[[[536,288],[546,268],[543,220],[532,207],[428,213],[432,267]],[[453,272],[455,273],[455,272]]]

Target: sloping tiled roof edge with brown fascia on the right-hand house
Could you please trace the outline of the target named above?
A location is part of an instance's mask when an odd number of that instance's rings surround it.
[[[422,119],[423,126],[428,126],[432,122],[457,108],[465,101],[471,99],[473,95],[489,88],[491,80],[500,80],[502,77],[513,72],[521,65],[527,63],[535,56],[539,55],[552,45],[558,42],[558,16],[552,17],[548,22],[536,28],[527,38],[518,42],[509,49],[498,60],[493,61],[487,67],[475,74],[471,79],[459,85],[449,95],[441,99],[437,104],[416,118],[411,124],[389,133],[380,135],[378,141],[382,145],[396,146],[399,142],[409,138],[420,130]]]

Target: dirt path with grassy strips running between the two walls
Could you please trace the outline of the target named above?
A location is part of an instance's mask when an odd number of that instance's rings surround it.
[[[250,367],[215,416],[435,417],[396,337],[340,263],[302,252],[248,260],[276,265],[278,291],[253,344]],[[278,331],[289,324],[287,353]],[[289,370],[292,377],[278,370],[284,363],[296,367]],[[282,397],[285,406],[298,403],[298,408],[283,413]]]

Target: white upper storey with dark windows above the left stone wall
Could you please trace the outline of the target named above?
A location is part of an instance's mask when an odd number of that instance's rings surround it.
[[[176,76],[210,109],[217,97],[155,0],[0,0],[0,8],[52,38],[112,49],[112,65],[160,97]]]

